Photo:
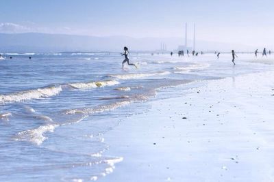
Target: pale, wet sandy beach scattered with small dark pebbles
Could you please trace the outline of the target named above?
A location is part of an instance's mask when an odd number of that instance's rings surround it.
[[[105,155],[123,162],[99,181],[274,181],[273,76],[203,81],[148,102],[103,136]]]

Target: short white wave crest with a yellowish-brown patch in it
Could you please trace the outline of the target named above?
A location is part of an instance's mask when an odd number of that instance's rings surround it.
[[[79,83],[70,83],[69,85],[75,89],[94,89],[97,87],[106,87],[117,85],[119,82],[116,80],[105,80],[105,81],[98,81],[98,82],[79,82]]]

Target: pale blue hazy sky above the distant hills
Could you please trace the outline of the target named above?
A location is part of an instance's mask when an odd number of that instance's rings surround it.
[[[274,1],[1,0],[1,33],[65,33],[274,45]]]

